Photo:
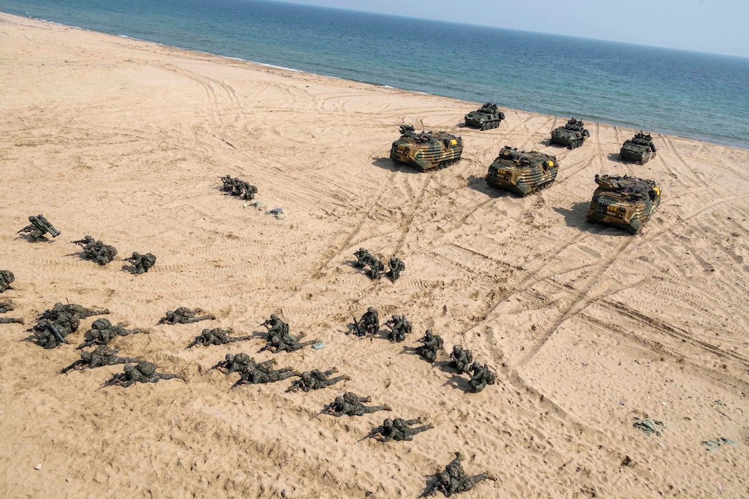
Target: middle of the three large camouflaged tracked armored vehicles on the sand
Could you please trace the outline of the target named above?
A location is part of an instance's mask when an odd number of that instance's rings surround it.
[[[518,151],[506,145],[489,166],[486,183],[520,196],[549,187],[557,178],[557,157],[539,151]]]

